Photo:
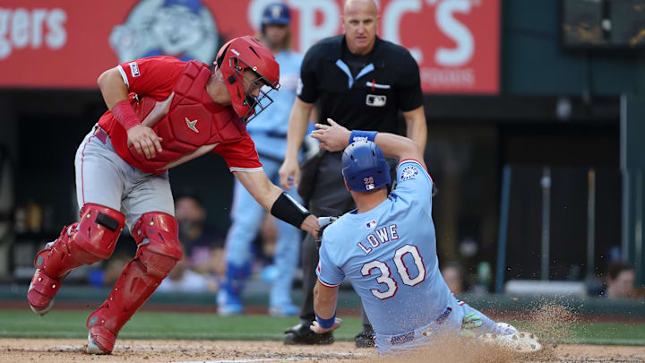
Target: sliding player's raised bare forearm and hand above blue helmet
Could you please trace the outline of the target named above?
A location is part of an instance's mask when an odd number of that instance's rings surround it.
[[[312,137],[321,142],[321,148],[324,150],[341,151],[345,149],[350,142],[352,132],[331,118],[328,118],[327,121],[330,125],[316,124],[316,130],[312,132]],[[355,130],[354,133],[360,132]],[[414,159],[420,162],[424,168],[426,167],[423,152],[417,143],[407,137],[398,134],[378,133],[374,136],[374,143],[379,145],[387,157],[399,160]]]

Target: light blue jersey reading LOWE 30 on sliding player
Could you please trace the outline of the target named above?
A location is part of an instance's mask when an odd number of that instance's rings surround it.
[[[318,280],[335,287],[347,277],[377,334],[459,332],[463,311],[436,255],[433,180],[416,160],[403,160],[397,183],[374,209],[348,212],[325,229]]]

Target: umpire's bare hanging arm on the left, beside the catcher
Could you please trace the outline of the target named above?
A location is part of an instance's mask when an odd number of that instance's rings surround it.
[[[305,138],[312,109],[314,109],[314,103],[307,103],[298,98],[291,108],[287,132],[287,153],[279,171],[280,185],[287,190],[291,190],[293,186],[297,187],[300,181],[297,155]]]

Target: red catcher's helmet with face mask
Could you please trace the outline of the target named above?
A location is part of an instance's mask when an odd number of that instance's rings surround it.
[[[254,37],[245,35],[228,41],[219,48],[215,65],[224,76],[233,109],[245,122],[250,122],[273,103],[269,92],[280,88],[280,65],[271,51]],[[244,89],[242,82],[246,70],[258,77],[255,81],[246,79],[251,84],[249,90]],[[254,87],[260,90],[258,97],[250,93]]]

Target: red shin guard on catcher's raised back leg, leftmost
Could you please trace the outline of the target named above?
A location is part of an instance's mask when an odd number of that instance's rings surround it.
[[[64,227],[54,244],[36,255],[34,266],[50,278],[60,279],[83,264],[105,260],[112,255],[124,224],[121,212],[87,203],[81,209],[81,220]]]

